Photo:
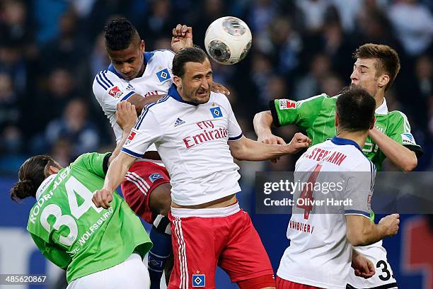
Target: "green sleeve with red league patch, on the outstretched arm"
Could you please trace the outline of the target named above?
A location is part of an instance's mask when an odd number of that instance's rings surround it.
[[[323,99],[326,97],[328,97],[326,94],[320,94],[303,101],[291,101],[289,99],[270,101],[269,107],[274,125],[277,127],[297,125],[304,130],[311,128],[321,111]]]

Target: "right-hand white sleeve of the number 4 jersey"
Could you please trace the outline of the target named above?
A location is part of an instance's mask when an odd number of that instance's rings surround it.
[[[350,174],[349,172],[345,174]],[[350,205],[345,205],[345,215],[362,215],[369,218],[376,169],[371,162],[362,162],[347,178],[345,196]]]

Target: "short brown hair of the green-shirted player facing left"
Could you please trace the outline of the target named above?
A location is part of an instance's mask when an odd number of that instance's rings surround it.
[[[355,50],[353,58],[354,60],[358,58],[374,58],[376,60],[376,77],[381,76],[381,74],[388,74],[389,76],[389,82],[385,86],[385,91],[391,87],[391,84],[393,84],[400,71],[400,58],[398,58],[398,53],[388,45],[366,43]]]

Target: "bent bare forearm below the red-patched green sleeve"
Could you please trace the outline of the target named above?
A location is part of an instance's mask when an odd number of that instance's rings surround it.
[[[254,115],[253,125],[258,142],[264,142],[269,145],[286,145],[286,142],[281,137],[272,135],[272,121],[272,113],[270,111],[262,111]]]

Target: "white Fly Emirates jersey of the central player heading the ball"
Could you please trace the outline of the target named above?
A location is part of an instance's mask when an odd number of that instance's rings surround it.
[[[199,205],[241,191],[227,143],[241,137],[224,94],[211,92],[207,103],[197,105],[183,101],[173,84],[168,96],[143,109],[122,152],[142,157],[154,143],[171,177],[171,199]]]

